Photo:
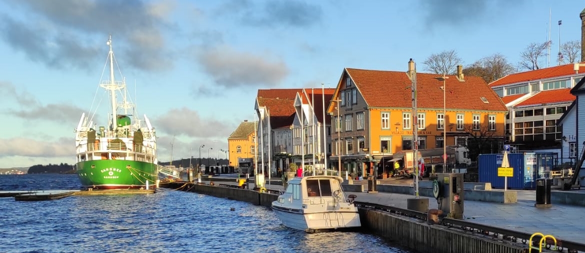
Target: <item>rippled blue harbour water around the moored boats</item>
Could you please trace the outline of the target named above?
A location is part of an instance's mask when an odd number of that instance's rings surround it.
[[[0,175],[0,190],[80,188],[77,175]],[[291,230],[269,208],[174,190],[41,202],[6,197],[0,215],[4,253],[411,252],[371,234]]]

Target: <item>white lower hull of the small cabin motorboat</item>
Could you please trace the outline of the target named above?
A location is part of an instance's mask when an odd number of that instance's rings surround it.
[[[273,203],[272,210],[276,217],[285,227],[301,231],[336,230],[342,228],[361,227],[360,215],[358,212],[350,211],[325,211],[301,213],[294,209],[287,210]]]

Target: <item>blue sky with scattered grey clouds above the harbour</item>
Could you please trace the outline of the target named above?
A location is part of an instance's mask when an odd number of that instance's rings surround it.
[[[94,99],[108,103],[98,84],[109,35],[138,112],[157,130],[159,161],[198,157],[201,144],[202,157],[225,158],[229,135],[254,120],[258,89],[335,88],[343,68],[407,71],[409,58],[424,72],[427,57],[448,50],[463,65],[496,53],[517,64],[549,34],[552,66],[559,35],[580,40],[583,8],[582,0],[0,1],[0,168],[75,163],[81,113]],[[105,126],[107,112],[97,117]]]

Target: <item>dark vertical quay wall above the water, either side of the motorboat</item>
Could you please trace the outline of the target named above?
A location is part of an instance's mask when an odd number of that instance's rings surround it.
[[[271,203],[278,198],[276,194],[260,193],[233,186],[212,186],[205,183],[170,182],[161,183],[160,187],[225,197],[266,207],[270,207]],[[363,230],[388,238],[415,251],[428,253],[528,252],[527,245],[497,240],[491,238],[491,235],[466,233],[441,225],[428,225],[426,221],[367,208],[360,208],[359,212]]]

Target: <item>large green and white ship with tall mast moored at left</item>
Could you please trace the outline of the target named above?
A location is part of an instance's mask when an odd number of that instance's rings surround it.
[[[114,77],[111,36],[106,44],[109,80],[101,81],[99,86],[109,92],[108,120],[105,125],[97,125],[96,112],[82,113],[75,129],[77,175],[84,188],[153,188],[159,178],[155,131],[146,115],[143,119],[137,117],[125,79],[117,81]]]

